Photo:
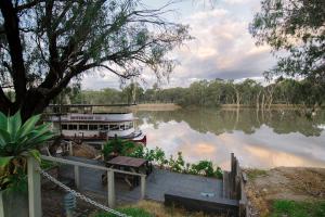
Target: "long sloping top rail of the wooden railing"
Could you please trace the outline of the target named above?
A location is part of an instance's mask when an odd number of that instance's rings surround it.
[[[41,158],[47,159],[47,161],[51,161],[51,162],[62,163],[62,164],[82,166],[82,167],[88,167],[88,168],[93,168],[93,169],[101,169],[101,170],[106,170],[106,171],[114,171],[114,173],[119,173],[119,174],[127,174],[127,175],[140,176],[140,177],[143,177],[143,176],[145,177],[146,176],[145,174],[138,174],[138,173],[132,173],[132,171],[113,169],[113,168],[107,168],[107,167],[104,167],[104,166],[87,164],[87,163],[70,161],[70,159],[64,159],[64,158],[58,158],[58,157],[53,157],[53,156],[41,155]]]

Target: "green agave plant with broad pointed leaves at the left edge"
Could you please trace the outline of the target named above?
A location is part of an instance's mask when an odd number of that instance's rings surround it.
[[[22,123],[21,113],[0,112],[0,191],[21,189],[26,181],[26,156],[40,161],[38,148],[54,135],[48,124],[38,125],[40,115]]]

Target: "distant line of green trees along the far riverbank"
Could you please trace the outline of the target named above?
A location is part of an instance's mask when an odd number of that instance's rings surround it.
[[[144,90],[139,84],[130,84],[121,90],[80,90],[79,86],[67,88],[53,102],[63,104],[118,104],[118,103],[176,103],[182,106],[219,106],[236,104],[270,108],[272,104],[300,104],[308,107],[322,105],[325,85],[312,80],[278,78],[274,84],[262,86],[252,79],[199,80],[188,88],[159,89],[157,84]]]

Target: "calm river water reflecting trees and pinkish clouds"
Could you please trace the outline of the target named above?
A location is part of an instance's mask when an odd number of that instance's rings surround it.
[[[185,161],[210,159],[230,167],[230,153],[242,166],[325,167],[325,111],[312,118],[297,111],[256,110],[139,111],[147,146]]]

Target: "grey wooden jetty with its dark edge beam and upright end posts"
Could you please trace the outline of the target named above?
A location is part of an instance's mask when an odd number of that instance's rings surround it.
[[[74,156],[67,158],[83,164],[104,166],[99,161]],[[62,165],[60,178],[74,180],[76,177],[74,173],[74,166]],[[98,196],[107,195],[107,184],[102,184],[101,180],[102,170],[80,167],[78,173],[78,190],[91,192]],[[188,210],[203,210],[207,214],[249,216],[246,213],[247,200],[244,193],[243,175],[234,154],[232,154],[231,171],[224,173],[223,180],[155,168],[145,182],[144,199],[146,200],[181,206]],[[115,181],[118,204],[138,202],[142,199],[141,192],[141,187],[130,190],[126,183]]]

